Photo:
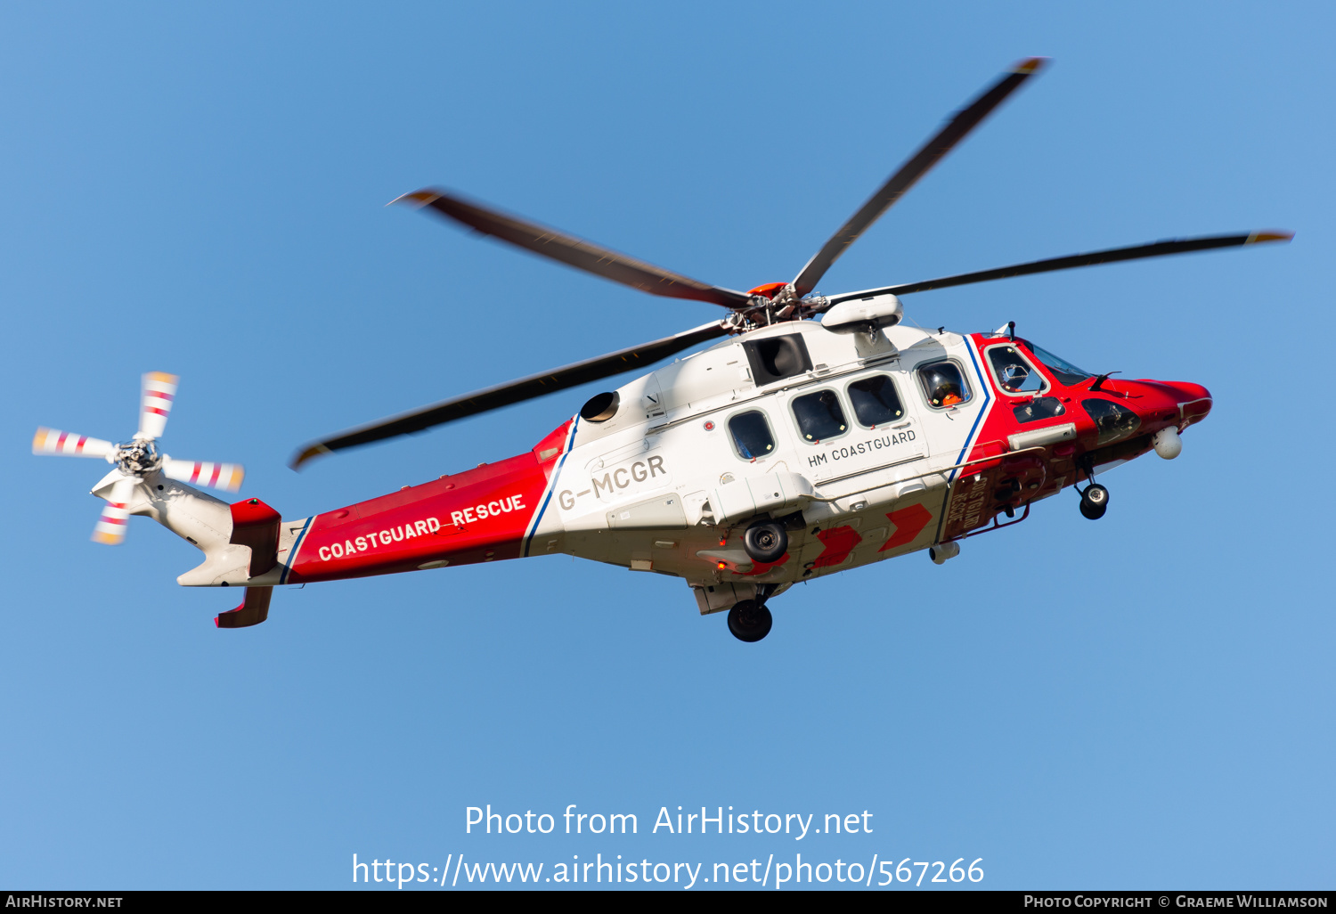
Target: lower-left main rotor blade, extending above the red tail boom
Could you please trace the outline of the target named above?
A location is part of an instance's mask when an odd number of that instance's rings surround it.
[[[588,381],[611,378],[616,374],[623,374],[645,365],[652,365],[661,358],[667,358],[673,353],[680,353],[684,349],[691,349],[692,346],[696,346],[707,339],[712,339],[713,337],[723,337],[728,333],[728,325],[723,322],[704,323],[693,330],[685,330],[676,335],[664,337],[663,339],[656,339],[640,346],[621,349],[616,353],[599,355],[597,358],[588,358],[582,362],[574,362],[573,365],[566,365],[552,371],[544,371],[542,374],[530,374],[526,378],[500,384],[494,388],[474,390],[473,393],[456,397],[454,400],[445,400],[440,404],[413,410],[411,413],[403,413],[402,416],[395,416],[381,422],[363,425],[333,438],[313,441],[293,457],[289,466],[299,469],[307,460],[318,457],[319,454],[343,450],[345,448],[355,448],[373,441],[383,441],[385,438],[393,438],[401,434],[421,432],[432,428],[433,425],[442,425],[444,422],[453,422],[454,420],[461,420],[466,416],[477,416],[478,413],[486,413],[493,409],[500,409],[501,406],[509,406],[525,400],[534,400],[536,397],[544,397],[549,393],[565,390],[566,388],[574,388],[576,385],[585,384]]]

